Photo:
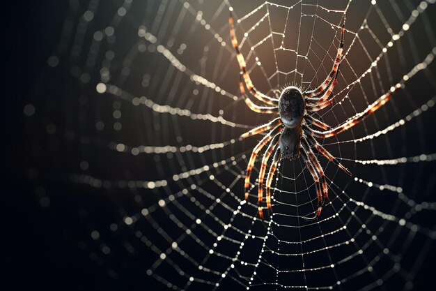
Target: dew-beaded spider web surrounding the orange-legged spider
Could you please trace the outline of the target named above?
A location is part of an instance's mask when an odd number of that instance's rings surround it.
[[[65,110],[31,100],[24,113],[42,112],[47,135],[78,153],[63,167],[66,184],[95,196],[72,206],[86,225],[75,244],[111,280],[162,290],[425,286],[436,239],[433,3],[70,1],[48,58],[68,80]],[[329,200],[316,221],[302,219],[316,189],[301,159],[281,161],[265,219],[259,161],[244,200],[260,138],[238,137],[271,116],[251,112],[238,89],[229,10],[247,70],[269,95],[317,87],[345,22],[334,103],[318,115],[331,126],[402,85],[371,117],[320,140],[354,176],[318,156]],[[56,124],[51,114],[65,116]]]

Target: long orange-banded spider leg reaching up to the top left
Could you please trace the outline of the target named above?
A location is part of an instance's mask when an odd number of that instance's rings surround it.
[[[240,69],[242,72],[242,76],[244,77],[244,83],[247,86],[247,89],[251,92],[251,94],[253,94],[254,97],[258,98],[258,100],[262,101],[263,103],[266,103],[269,105],[277,105],[279,100],[277,100],[275,98],[271,98],[270,96],[267,96],[267,95],[257,91],[253,85],[253,82],[251,82],[250,75],[247,72],[247,68],[246,68],[247,64],[245,64],[244,56],[242,56],[242,53],[239,50],[238,38],[236,38],[232,14],[228,18],[228,23],[230,24],[230,35],[232,38],[232,45],[233,45],[233,47],[235,47],[236,58],[238,59],[238,63],[239,63],[239,66],[240,66]]]

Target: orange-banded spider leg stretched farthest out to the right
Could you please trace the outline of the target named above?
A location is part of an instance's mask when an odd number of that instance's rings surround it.
[[[355,114],[355,116],[351,117],[343,124],[340,124],[332,129],[325,130],[325,131],[314,130],[311,128],[309,128],[309,130],[311,131],[313,136],[318,138],[332,137],[334,135],[337,135],[338,133],[348,130],[349,128],[352,128],[352,126],[358,124],[360,121],[366,119],[366,117],[373,114],[377,109],[382,107],[382,105],[387,103],[387,101],[391,98],[392,94],[394,94],[400,88],[401,88],[401,84],[396,84],[395,87],[391,87],[391,90],[388,93],[383,94],[380,98],[375,100],[373,104],[366,107],[366,110]]]

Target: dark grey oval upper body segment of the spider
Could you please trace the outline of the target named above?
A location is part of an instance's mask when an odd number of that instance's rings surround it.
[[[296,128],[302,123],[304,116],[304,98],[297,87],[286,87],[280,94],[279,114],[283,124],[288,128]]]

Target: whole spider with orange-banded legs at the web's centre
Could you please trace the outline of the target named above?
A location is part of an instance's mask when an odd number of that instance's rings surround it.
[[[360,121],[368,117],[368,115],[372,114],[375,112],[375,110],[384,105],[384,103],[387,103],[389,98],[391,98],[391,94],[400,88],[400,84],[396,84],[395,87],[392,87],[389,93],[382,95],[373,104],[369,105],[363,112],[355,114],[353,117],[343,122],[343,124],[339,124],[338,126],[332,128],[328,124],[316,119],[311,114],[329,106],[333,102],[333,98],[329,97],[332,96],[332,91],[337,82],[339,66],[341,65],[341,61],[343,59],[345,22],[341,27],[341,43],[339,44],[332,70],[322,84],[320,84],[320,86],[316,89],[305,91],[302,91],[302,89],[299,89],[295,86],[289,86],[281,91],[279,98],[267,96],[254,87],[249,73],[247,72],[244,57],[239,49],[232,15],[229,17],[229,24],[232,45],[235,47],[236,57],[240,66],[240,91],[242,96],[244,96],[245,103],[254,112],[274,114],[275,116],[275,118],[269,123],[253,128],[252,130],[249,130],[247,133],[244,133],[240,136],[240,140],[242,140],[244,138],[270,130],[269,133],[267,133],[267,135],[265,135],[265,137],[258,142],[251,153],[251,157],[247,165],[247,176],[245,177],[244,183],[245,199],[247,200],[249,197],[250,174],[251,170],[253,169],[254,162],[256,161],[256,156],[258,156],[259,152],[265,147],[265,145],[268,144],[259,170],[258,202],[263,202],[265,171],[267,168],[267,163],[270,160],[274,149],[274,156],[272,158],[270,171],[267,174],[265,183],[267,208],[271,208],[270,189],[272,178],[277,170],[277,164],[279,161],[281,159],[294,160],[299,158],[299,156],[302,156],[306,168],[309,170],[311,177],[315,182],[316,194],[318,197],[318,209],[316,209],[313,216],[304,216],[304,218],[309,220],[315,219],[316,217],[320,216],[322,207],[325,206],[325,201],[328,198],[328,187],[324,171],[322,170],[318,158],[313,153],[312,148],[315,148],[316,151],[328,158],[329,161],[332,161],[339,168],[341,168],[341,170],[352,176],[351,172],[347,170],[347,168],[339,163],[339,161],[334,158],[334,156],[332,156],[327,149],[322,147],[322,145],[316,140],[316,137],[332,137],[343,132],[344,130],[348,130],[352,126],[355,126]],[[263,105],[259,106],[253,103],[253,101],[251,101],[247,95],[247,91],[249,91],[254,98],[260,100]],[[278,117],[277,114],[279,115]],[[312,126],[316,126],[322,130],[313,129]],[[263,209],[264,207],[258,207],[260,218],[263,218]]]

